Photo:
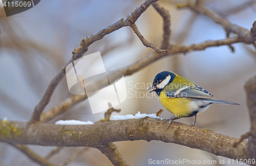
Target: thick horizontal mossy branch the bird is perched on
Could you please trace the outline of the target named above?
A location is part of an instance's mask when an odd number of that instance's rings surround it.
[[[249,158],[247,141],[238,141],[230,136],[197,127],[151,118],[109,121],[94,125],[30,124],[25,122],[0,121],[0,141],[13,144],[44,146],[89,146],[98,147],[118,141],[162,141],[204,150],[215,155],[233,159]]]

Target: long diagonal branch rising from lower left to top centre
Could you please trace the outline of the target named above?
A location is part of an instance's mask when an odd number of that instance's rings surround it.
[[[130,13],[126,18],[122,18],[119,21],[113,23],[112,25],[103,27],[101,30],[96,32],[95,34],[86,37],[82,39],[80,45],[75,48],[75,50],[72,52],[73,56],[72,59],[61,68],[61,70],[58,72],[58,74],[53,78],[51,81],[49,87],[47,88],[44,96],[39,101],[39,103],[36,105],[34,113],[31,118],[31,123],[34,123],[36,121],[40,120],[41,113],[44,111],[46,105],[49,103],[51,96],[59,84],[60,80],[65,76],[66,67],[68,64],[73,62],[73,60],[77,60],[78,58],[81,58],[84,53],[87,52],[88,47],[96,42],[97,40],[102,39],[105,35],[108,35],[116,30],[119,30],[121,27],[129,26],[132,23],[136,22],[137,19],[140,17],[140,15],[145,12],[145,10],[150,7],[154,2],[158,0],[146,0],[141,6],[136,8],[132,13]]]

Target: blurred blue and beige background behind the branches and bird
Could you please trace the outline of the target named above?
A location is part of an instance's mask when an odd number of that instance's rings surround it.
[[[189,9],[177,10],[176,5],[183,2],[159,1],[171,15],[171,44],[190,45],[226,37],[222,26],[208,17],[198,15]],[[202,2],[207,8],[248,30],[256,18],[255,1],[204,0]],[[143,3],[141,0],[45,0],[30,10],[10,17],[6,17],[1,4],[0,119],[7,117],[9,120],[29,121],[35,105],[44,95],[51,79],[70,60],[72,51],[80,41],[102,27],[126,17],[141,3]],[[148,41],[161,45],[162,17],[153,7],[148,8],[136,23]],[[235,48],[233,53],[228,46],[220,46],[165,57],[132,76],[126,76],[127,99],[115,107],[121,109],[118,115],[135,115],[138,111],[153,114],[163,108],[158,98],[145,97],[147,87],[143,85],[152,84],[157,73],[168,70],[188,78],[218,99],[240,103],[240,106],[214,104],[197,117],[197,127],[240,137],[249,131],[250,127],[244,85],[248,78],[256,73],[256,51],[252,46],[242,43],[233,46]],[[92,44],[86,54],[97,51],[101,52],[106,70],[111,71],[140,60],[152,53],[153,49],[143,46],[131,27],[123,27]],[[135,84],[137,88],[134,87]],[[70,95],[65,76],[45,111],[60,104]],[[167,119],[170,116],[173,115],[164,110],[160,117]],[[93,115],[88,100],[85,100],[49,123],[66,119],[96,122],[103,117],[104,113]],[[182,118],[178,121],[190,125],[194,117]],[[159,141],[126,141],[114,144],[130,165],[148,165],[148,159],[166,158],[217,160],[217,163],[220,159],[225,159],[225,165],[229,165],[227,158],[176,144]],[[55,149],[55,147],[34,145],[28,147],[43,157]],[[37,165],[25,154],[6,143],[0,142],[0,149],[1,166]],[[62,148],[50,161],[58,164],[79,149],[81,148]],[[69,165],[112,165],[112,163],[98,149],[91,148]]]

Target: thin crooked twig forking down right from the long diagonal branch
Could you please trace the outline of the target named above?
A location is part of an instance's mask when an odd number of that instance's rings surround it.
[[[167,49],[160,49],[157,47],[156,44],[154,43],[151,43],[151,42],[148,42],[142,35],[141,33],[139,32],[138,30],[138,27],[136,26],[135,23],[132,23],[130,25],[134,31],[134,33],[138,36],[138,38],[140,39],[140,41],[142,42],[142,44],[145,46],[145,47],[150,47],[150,48],[153,48],[157,53],[166,53],[167,52]]]

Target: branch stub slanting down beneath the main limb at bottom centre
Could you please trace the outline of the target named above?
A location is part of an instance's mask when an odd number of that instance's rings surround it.
[[[129,165],[121,156],[119,151],[117,150],[116,146],[113,143],[109,143],[106,145],[98,146],[97,147],[101,153],[105,154],[106,157],[113,163],[113,165]]]

